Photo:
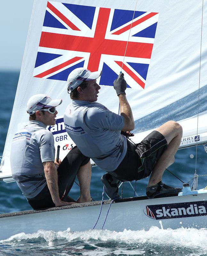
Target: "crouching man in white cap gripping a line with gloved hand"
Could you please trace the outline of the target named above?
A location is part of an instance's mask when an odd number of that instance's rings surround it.
[[[177,193],[162,183],[164,170],[174,162],[180,145],[182,127],[169,121],[151,132],[138,144],[132,144],[121,134],[134,129],[131,107],[126,99],[126,81],[121,73],[114,81],[119,97],[121,115],[97,103],[100,86],[96,79],[101,72],[76,68],[68,76],[68,91],[72,103],[65,111],[66,131],[85,156],[107,173],[101,178],[105,192],[111,199],[118,198],[121,181],[140,180],[148,177],[148,198]],[[127,132],[130,135],[130,132]]]

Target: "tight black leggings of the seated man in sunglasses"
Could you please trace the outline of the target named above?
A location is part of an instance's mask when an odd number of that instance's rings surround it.
[[[89,161],[90,158],[84,156],[76,146],[72,148],[63,159],[57,169],[59,194],[62,201],[76,202],[73,198],[68,196],[68,193],[73,186],[80,166],[87,164]],[[28,198],[27,200],[35,210],[55,207],[47,185],[37,196]]]

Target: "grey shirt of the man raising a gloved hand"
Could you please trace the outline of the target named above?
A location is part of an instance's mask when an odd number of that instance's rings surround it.
[[[66,131],[80,151],[105,171],[114,171],[126,155],[120,134],[124,118],[97,102],[73,100],[64,114]]]

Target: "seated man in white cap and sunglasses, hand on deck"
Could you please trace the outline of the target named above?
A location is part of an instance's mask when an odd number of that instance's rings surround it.
[[[55,125],[56,107],[61,103],[44,94],[32,96],[27,103],[29,124],[12,140],[12,177],[33,209],[76,203],[68,196],[76,175],[81,191],[77,203],[91,201],[90,158],[74,147],[62,162],[54,162],[54,138],[46,127]]]

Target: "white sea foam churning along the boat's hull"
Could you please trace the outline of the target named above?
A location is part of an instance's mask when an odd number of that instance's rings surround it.
[[[45,231],[39,230],[33,234],[20,233],[6,240],[1,240],[2,244],[21,244],[22,240],[44,239],[47,245],[53,246],[57,240],[82,241],[86,243],[92,242],[93,246],[96,243],[118,242],[125,245],[136,244],[151,244],[151,245],[166,245],[166,246],[181,246],[190,248],[200,248],[207,250],[207,229],[195,228],[178,228],[173,230],[171,228],[161,229],[158,227],[151,227],[148,231],[145,230],[123,230],[123,232],[109,231],[109,230],[88,230],[71,232],[66,231]],[[144,251],[141,253],[143,254]],[[139,254],[139,253],[138,253]],[[118,255],[118,254],[117,254]],[[133,254],[131,254],[133,255]]]

